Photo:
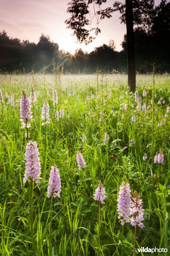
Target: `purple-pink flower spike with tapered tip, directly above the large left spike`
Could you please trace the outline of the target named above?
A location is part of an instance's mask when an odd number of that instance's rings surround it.
[[[22,128],[26,127],[29,128],[31,125],[29,121],[32,119],[32,113],[31,113],[31,105],[28,99],[28,96],[23,91],[22,99],[21,99],[21,106],[20,106],[20,121],[23,125]]]

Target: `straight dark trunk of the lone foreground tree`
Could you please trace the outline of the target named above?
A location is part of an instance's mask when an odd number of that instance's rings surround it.
[[[132,0],[126,0],[126,30],[127,30],[127,75],[130,91],[136,89],[135,42],[133,32]]]

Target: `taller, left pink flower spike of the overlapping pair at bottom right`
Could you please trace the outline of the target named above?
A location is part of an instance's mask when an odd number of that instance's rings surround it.
[[[119,187],[119,197],[117,204],[117,212],[119,214],[118,218],[121,219],[121,225],[126,222],[130,222],[130,205],[131,205],[131,195],[130,195],[129,183],[122,182],[122,186]]]

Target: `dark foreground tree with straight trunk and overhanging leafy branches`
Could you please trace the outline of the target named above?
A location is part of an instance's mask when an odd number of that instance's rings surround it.
[[[99,29],[99,20],[110,18],[113,12],[119,11],[121,14],[121,23],[126,24],[127,35],[127,73],[128,85],[131,91],[136,87],[136,67],[135,67],[135,44],[133,27],[141,28],[146,33],[150,33],[154,12],[154,0],[125,0],[125,3],[115,1],[113,6],[102,9],[102,3],[107,0],[72,0],[68,3],[67,12],[71,17],[65,20],[67,28],[73,30],[77,41],[85,44],[91,43],[95,36],[101,32]],[[166,2],[162,0],[162,2]],[[94,4],[98,11],[94,10],[94,16],[91,15],[90,5]],[[95,9],[95,8],[94,8]],[[91,27],[91,21],[96,17],[96,26]],[[95,36],[91,35],[94,31]]]

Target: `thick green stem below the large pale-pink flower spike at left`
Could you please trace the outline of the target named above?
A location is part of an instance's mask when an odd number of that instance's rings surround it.
[[[33,229],[32,194],[33,194],[33,180],[31,180],[29,183],[29,223],[30,223],[33,255],[36,255],[35,244],[34,244],[34,229]]]

